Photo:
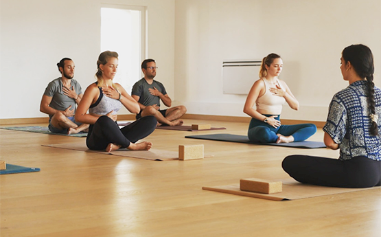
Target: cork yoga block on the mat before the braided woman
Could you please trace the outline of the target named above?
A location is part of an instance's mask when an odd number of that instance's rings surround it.
[[[248,192],[260,192],[263,194],[273,194],[281,192],[281,181],[268,181],[264,179],[241,179],[240,190]]]

